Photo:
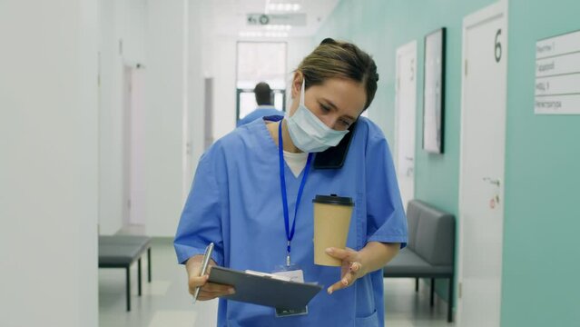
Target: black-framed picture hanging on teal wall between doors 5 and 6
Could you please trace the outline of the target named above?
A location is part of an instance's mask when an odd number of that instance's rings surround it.
[[[445,27],[425,36],[423,149],[443,154],[445,113]]]

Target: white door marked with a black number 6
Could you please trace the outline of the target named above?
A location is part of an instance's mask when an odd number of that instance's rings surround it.
[[[506,145],[507,7],[463,23],[458,325],[499,326]]]

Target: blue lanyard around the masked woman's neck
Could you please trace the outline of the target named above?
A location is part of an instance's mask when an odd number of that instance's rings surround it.
[[[298,206],[300,205],[300,197],[302,197],[302,191],[304,191],[304,184],[306,184],[306,178],[310,171],[310,161],[312,160],[312,154],[308,154],[308,159],[306,161],[306,166],[304,167],[304,174],[302,175],[302,182],[300,182],[300,188],[298,189],[298,196],[296,197],[296,207],[294,208],[294,221],[292,222],[292,228],[290,229],[290,214],[288,213],[288,194],[286,193],[286,175],[284,174],[284,144],[282,142],[282,122],[278,125],[278,154],[280,157],[280,188],[282,191],[282,208],[284,209],[284,227],[286,227],[286,239],[288,240],[288,247],[286,248],[286,265],[290,266],[290,242],[294,238],[294,232],[296,231],[296,218],[298,214]]]

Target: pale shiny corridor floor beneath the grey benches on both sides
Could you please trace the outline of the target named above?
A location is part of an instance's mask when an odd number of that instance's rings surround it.
[[[171,239],[153,239],[152,282],[146,282],[146,269],[143,269],[141,297],[137,295],[137,268],[136,264],[133,265],[131,312],[125,311],[124,273],[123,269],[99,270],[100,326],[216,325],[217,301],[198,302],[192,306],[192,297],[187,292],[187,276],[182,266],[176,263]],[[385,324],[388,327],[454,326],[447,323],[446,302],[437,298],[435,307],[432,310],[429,307],[427,285],[421,284],[421,290],[416,293],[413,279],[386,279],[385,294]]]

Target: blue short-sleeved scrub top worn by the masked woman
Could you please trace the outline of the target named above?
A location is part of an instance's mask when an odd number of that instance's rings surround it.
[[[211,242],[213,260],[231,269],[272,272],[285,263],[278,155],[262,119],[237,128],[202,155],[175,235],[179,263],[202,254]],[[304,172],[295,177],[287,164],[284,169],[294,213]],[[384,325],[381,270],[329,295],[326,288],[339,282],[340,268],[314,264],[312,199],[331,193],[355,202],[349,248],[360,250],[371,241],[406,245],[407,219],[387,140],[376,124],[360,117],[343,167],[311,167],[302,194],[291,259],[304,271],[305,282],[324,286],[310,301],[308,315],[276,318],[273,308],[220,299],[219,326]]]

